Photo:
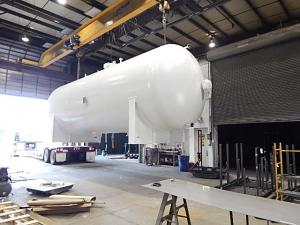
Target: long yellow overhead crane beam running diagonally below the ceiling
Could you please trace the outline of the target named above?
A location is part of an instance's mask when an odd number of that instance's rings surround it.
[[[156,0],[118,0],[43,52],[40,61],[36,64],[40,67],[47,67],[156,4]],[[72,49],[66,48],[65,42],[74,35],[80,37],[80,43]]]

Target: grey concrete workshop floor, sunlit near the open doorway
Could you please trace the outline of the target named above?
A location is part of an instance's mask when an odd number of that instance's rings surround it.
[[[90,212],[49,216],[62,225],[154,225],[160,206],[162,193],[142,187],[154,181],[168,178],[189,180],[195,183],[215,186],[217,180],[194,178],[190,173],[180,173],[173,167],[149,167],[136,160],[106,159],[98,157],[95,163],[81,163],[53,166],[33,159],[17,157],[5,162],[13,173],[14,180],[46,179],[63,180],[75,183],[68,194],[95,195],[97,201],[104,201]],[[1,163],[0,163],[1,164]],[[30,181],[13,184],[10,198],[26,205],[35,196],[29,194],[24,186]],[[208,208],[198,203],[188,202],[192,224],[223,225],[230,224],[229,213],[225,210]],[[236,204],[245,204],[237,202]],[[235,224],[245,224],[243,215],[234,214]],[[186,224],[181,219],[180,224]],[[267,224],[250,217],[251,225]]]

